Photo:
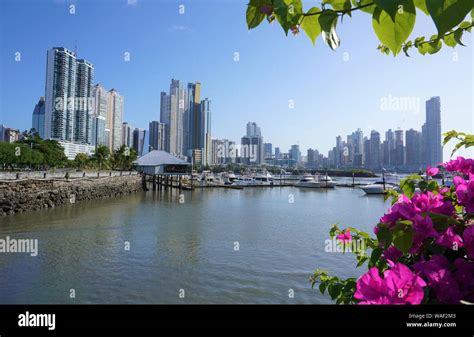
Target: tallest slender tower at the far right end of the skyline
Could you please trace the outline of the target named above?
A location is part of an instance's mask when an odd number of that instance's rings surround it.
[[[426,123],[423,128],[424,164],[436,166],[443,161],[441,144],[441,99],[431,97],[426,101]]]

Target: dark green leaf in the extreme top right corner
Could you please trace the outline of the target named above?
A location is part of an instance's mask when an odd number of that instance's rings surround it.
[[[464,20],[473,9],[474,0],[429,0],[426,7],[438,29],[438,36],[443,36]]]

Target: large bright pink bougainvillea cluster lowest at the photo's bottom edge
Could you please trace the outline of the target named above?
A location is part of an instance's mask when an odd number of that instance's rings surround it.
[[[359,304],[420,304],[423,301],[422,278],[402,263],[392,263],[380,277],[376,267],[362,275],[356,284],[354,297]]]

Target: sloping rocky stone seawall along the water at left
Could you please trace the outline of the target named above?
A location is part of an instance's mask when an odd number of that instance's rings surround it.
[[[142,191],[140,175],[0,181],[0,216]]]

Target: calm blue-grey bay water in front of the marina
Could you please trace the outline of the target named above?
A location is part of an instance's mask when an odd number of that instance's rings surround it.
[[[351,188],[183,194],[183,204],[176,190],[149,191],[0,218],[0,238],[39,244],[37,257],[0,253],[0,303],[329,303],[308,282],[316,268],[364,271],[324,251],[331,224],[371,232],[389,207]]]

